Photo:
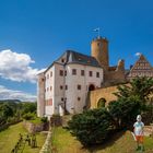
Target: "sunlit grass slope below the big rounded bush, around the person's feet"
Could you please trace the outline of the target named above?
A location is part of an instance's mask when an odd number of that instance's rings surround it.
[[[55,153],[137,153],[130,131],[117,133],[103,145],[83,149],[74,137],[59,127],[54,129],[52,145]],[[153,138],[144,138],[144,146],[145,153],[153,153]]]

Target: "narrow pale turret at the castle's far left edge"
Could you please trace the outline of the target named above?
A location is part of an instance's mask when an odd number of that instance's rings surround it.
[[[37,81],[37,116],[43,117],[45,114],[45,74],[38,74]]]

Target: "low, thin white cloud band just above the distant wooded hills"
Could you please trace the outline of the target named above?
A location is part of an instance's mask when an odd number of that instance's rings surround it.
[[[36,95],[24,93],[22,91],[9,90],[3,85],[0,85],[0,99],[20,99],[23,102],[35,102]]]

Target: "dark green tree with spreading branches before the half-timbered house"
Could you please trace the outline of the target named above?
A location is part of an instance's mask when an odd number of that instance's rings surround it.
[[[137,78],[129,85],[119,85],[117,101],[109,103],[109,114],[116,128],[130,125],[138,114],[148,110],[148,101],[153,93],[153,79]]]

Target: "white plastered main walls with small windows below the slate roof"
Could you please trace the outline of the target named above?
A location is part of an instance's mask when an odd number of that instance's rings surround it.
[[[76,75],[72,74],[72,69],[76,69]],[[60,75],[60,70],[63,71],[63,75]],[[84,70],[84,75],[81,75],[81,70]],[[67,71],[67,75],[64,75],[64,71]],[[89,75],[90,71],[93,72],[92,76]],[[96,76],[96,72],[99,72],[99,78]],[[50,73],[52,73],[51,76]],[[85,106],[89,86],[93,84],[95,87],[101,87],[102,82],[102,68],[78,63],[69,63],[66,66],[54,63],[52,67],[45,72],[45,116],[49,117],[62,111],[60,104],[64,104],[64,99],[67,110],[70,114],[81,113]],[[66,85],[68,90],[66,90]],[[81,90],[78,90],[78,85],[81,85]],[[60,86],[62,86],[62,89],[60,89]],[[52,104],[48,104],[50,99],[52,99]]]

